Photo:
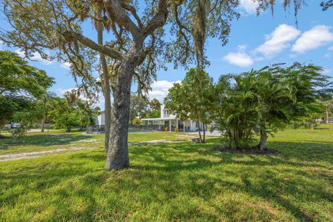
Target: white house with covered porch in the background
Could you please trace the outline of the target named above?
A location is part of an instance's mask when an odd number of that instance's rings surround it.
[[[164,130],[173,131],[175,128],[178,128],[179,132],[189,132],[198,130],[198,122],[187,120],[181,121],[175,115],[169,114],[166,110],[164,110],[164,105],[161,105],[161,117],[160,118],[148,118],[142,119],[142,122],[147,125],[160,125],[164,126]]]

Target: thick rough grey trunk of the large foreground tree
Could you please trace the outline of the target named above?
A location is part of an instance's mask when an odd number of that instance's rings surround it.
[[[131,49],[135,51],[134,49]],[[123,61],[115,80],[111,112],[110,142],[106,169],[130,166],[128,158],[128,124],[130,119],[130,86],[138,55],[130,52]]]

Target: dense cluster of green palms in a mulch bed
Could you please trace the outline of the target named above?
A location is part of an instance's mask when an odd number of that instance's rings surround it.
[[[265,149],[268,135],[325,112],[320,99],[327,97],[330,83],[322,73],[321,67],[294,63],[221,76],[207,90],[210,119],[230,148],[249,147],[259,134],[257,146]]]

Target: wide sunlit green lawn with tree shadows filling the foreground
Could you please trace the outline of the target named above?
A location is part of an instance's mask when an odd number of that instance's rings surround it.
[[[101,139],[86,136],[65,145]],[[162,134],[130,135],[145,137]],[[0,162],[0,221],[333,221],[333,128],[278,133],[278,156],[218,142],[133,145],[121,171],[103,169],[103,149]]]

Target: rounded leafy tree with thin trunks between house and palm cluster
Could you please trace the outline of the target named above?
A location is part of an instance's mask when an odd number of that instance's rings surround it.
[[[182,120],[194,119],[199,122],[200,142],[205,142],[204,124],[207,117],[207,98],[205,92],[212,85],[212,78],[201,69],[189,69],[181,83],[175,83],[164,99],[165,109]],[[203,124],[203,137],[201,126]]]

